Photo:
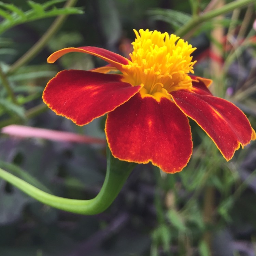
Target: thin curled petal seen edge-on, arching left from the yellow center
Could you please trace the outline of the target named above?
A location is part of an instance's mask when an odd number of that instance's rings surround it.
[[[60,58],[62,55],[66,54],[66,53],[71,53],[71,52],[87,53],[87,54],[97,56],[97,57],[105,60],[106,62],[112,64],[113,67],[116,67],[117,69],[122,68],[122,65],[128,64],[128,59],[126,59],[125,57],[123,57],[117,53],[108,51],[106,49],[94,47],[94,46],[84,46],[84,47],[78,47],[78,48],[75,48],[75,47],[64,48],[64,49],[61,49],[61,50],[51,54],[48,57],[47,61],[49,63],[53,63],[58,58]]]

